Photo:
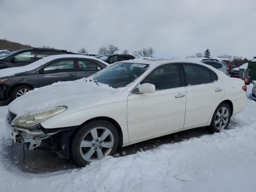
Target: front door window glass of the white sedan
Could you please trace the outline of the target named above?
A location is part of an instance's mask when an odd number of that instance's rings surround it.
[[[180,87],[179,65],[165,64],[154,69],[148,74],[140,84],[151,83],[156,86],[156,90]]]

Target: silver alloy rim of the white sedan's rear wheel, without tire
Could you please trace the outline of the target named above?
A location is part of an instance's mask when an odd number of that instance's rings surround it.
[[[215,126],[218,130],[222,130],[228,123],[229,112],[228,108],[222,107],[218,110],[215,116]]]

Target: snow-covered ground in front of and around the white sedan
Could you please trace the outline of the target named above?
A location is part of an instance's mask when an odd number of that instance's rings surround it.
[[[248,86],[250,97],[252,85]],[[229,130],[120,158],[107,157],[82,169],[27,174],[5,157],[11,144],[0,107],[0,191],[24,192],[255,192],[256,102],[232,117]]]

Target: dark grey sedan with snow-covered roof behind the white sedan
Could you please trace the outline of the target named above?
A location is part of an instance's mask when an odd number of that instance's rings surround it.
[[[34,88],[88,77],[106,66],[100,59],[73,54],[49,56],[20,68],[2,69],[0,99],[14,100]]]

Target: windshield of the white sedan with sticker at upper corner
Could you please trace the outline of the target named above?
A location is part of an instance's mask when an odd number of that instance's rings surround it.
[[[117,63],[98,72],[93,80],[113,88],[121,88],[136,80],[148,67],[147,64]]]

